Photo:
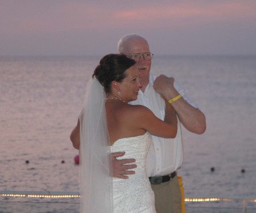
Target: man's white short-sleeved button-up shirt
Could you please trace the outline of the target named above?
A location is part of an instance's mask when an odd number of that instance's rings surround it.
[[[138,99],[130,102],[132,105],[143,105],[148,108],[159,118],[164,120],[165,102],[154,90],[153,84],[155,76],[150,75],[150,81],[144,91],[140,90]],[[190,105],[197,107],[192,103],[184,92],[184,89],[175,81],[174,87],[179,94]],[[181,140],[181,126],[178,119],[178,129],[175,139],[164,139],[162,137],[152,136],[153,143],[147,155],[147,175],[165,176],[174,172],[183,162],[183,145]]]

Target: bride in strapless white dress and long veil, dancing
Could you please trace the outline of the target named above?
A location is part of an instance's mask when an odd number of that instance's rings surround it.
[[[134,60],[110,54],[101,59],[88,82],[71,133],[73,146],[80,149],[80,212],[156,212],[146,174],[147,152],[151,135],[176,136],[177,118],[170,104],[164,121],[147,107],[129,105],[141,87],[138,72]],[[137,159],[135,174],[128,179],[112,178],[110,153],[121,151],[126,151],[125,158]]]

